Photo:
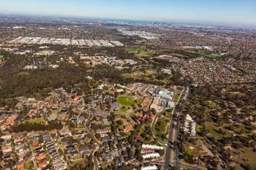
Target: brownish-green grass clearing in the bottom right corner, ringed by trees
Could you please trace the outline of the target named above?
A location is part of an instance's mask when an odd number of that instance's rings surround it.
[[[252,148],[244,148],[241,151],[241,158],[239,162],[242,164],[249,164],[251,169],[256,169],[255,158],[256,158],[256,152],[254,152]],[[247,161],[245,162],[243,159]]]

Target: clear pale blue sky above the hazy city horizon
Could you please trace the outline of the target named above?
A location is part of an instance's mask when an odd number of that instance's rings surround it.
[[[256,0],[0,0],[0,14],[256,27]]]

